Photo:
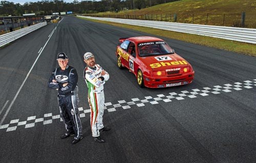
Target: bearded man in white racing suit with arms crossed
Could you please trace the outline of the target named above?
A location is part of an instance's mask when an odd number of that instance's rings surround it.
[[[109,127],[104,127],[102,119],[104,113],[104,91],[103,85],[108,81],[110,76],[104,69],[95,63],[92,53],[84,54],[84,62],[87,67],[84,68],[83,77],[88,87],[88,102],[91,108],[91,129],[94,141],[104,143],[100,137],[101,131],[109,131]]]

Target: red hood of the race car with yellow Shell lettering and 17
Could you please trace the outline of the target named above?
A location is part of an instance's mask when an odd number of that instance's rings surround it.
[[[189,63],[178,54],[141,57],[141,61],[149,68],[160,70],[188,66]]]

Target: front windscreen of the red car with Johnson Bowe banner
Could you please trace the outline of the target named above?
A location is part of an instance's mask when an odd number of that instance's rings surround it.
[[[155,56],[163,54],[173,54],[174,51],[164,41],[152,41],[138,43],[139,56]]]

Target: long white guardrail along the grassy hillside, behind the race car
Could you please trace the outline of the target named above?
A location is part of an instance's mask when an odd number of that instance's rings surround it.
[[[220,26],[207,26],[195,24],[182,24],[178,22],[163,22],[163,21],[150,21],[150,20],[135,20],[135,19],[119,19],[119,18],[104,18],[104,17],[90,17],[79,16],[90,19],[97,19],[103,21],[118,22],[121,24],[157,28],[168,31],[176,31],[182,33],[197,34],[203,36],[217,37],[228,40],[256,43],[256,29],[248,28],[234,28],[234,27],[220,27]]]

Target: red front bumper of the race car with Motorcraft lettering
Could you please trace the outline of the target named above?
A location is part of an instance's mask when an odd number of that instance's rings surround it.
[[[149,77],[143,75],[144,85],[149,88],[162,88],[162,87],[172,87],[178,85],[189,84],[194,79],[195,72],[180,74],[179,76],[159,76],[159,77]]]

